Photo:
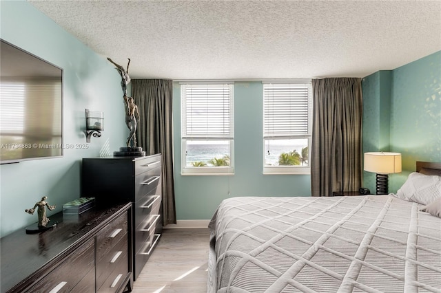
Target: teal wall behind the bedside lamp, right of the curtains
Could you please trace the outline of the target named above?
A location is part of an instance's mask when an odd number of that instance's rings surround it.
[[[363,79],[363,153],[402,154],[402,173],[389,175],[396,193],[416,161],[441,162],[441,51]],[[375,174],[364,172],[375,190]]]

